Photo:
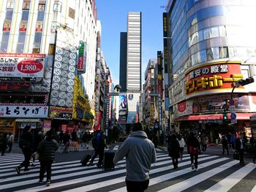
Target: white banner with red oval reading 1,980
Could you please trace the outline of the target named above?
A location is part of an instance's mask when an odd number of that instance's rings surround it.
[[[0,77],[43,77],[45,54],[0,53]]]

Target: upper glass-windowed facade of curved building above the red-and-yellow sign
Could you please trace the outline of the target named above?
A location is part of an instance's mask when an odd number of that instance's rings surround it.
[[[203,62],[256,55],[255,1],[169,3],[172,74]]]

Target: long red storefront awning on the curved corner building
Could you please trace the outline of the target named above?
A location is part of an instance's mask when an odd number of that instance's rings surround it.
[[[256,115],[256,113],[236,113],[237,120],[249,120],[249,117]],[[230,120],[230,113],[227,114]],[[208,114],[208,115],[187,115],[176,118],[175,121],[189,121],[189,120],[223,120],[222,114]]]

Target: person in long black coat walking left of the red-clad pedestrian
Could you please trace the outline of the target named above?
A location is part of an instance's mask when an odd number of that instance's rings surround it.
[[[176,134],[171,134],[167,139],[169,156],[173,160],[173,169],[178,169],[178,156],[180,145],[177,140]]]

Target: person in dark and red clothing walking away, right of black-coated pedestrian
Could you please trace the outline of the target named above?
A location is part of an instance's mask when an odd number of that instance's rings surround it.
[[[198,170],[198,154],[200,152],[200,142],[197,137],[195,137],[194,132],[190,132],[187,138],[187,151],[190,154],[191,168],[195,171]]]

